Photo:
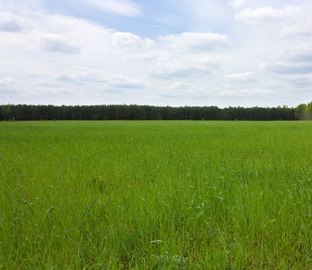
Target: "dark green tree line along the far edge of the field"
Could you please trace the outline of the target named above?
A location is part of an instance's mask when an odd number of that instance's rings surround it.
[[[51,120],[224,120],[224,121],[294,121],[312,120],[312,102],[296,108],[278,106],[150,106],[150,105],[0,105],[0,121]]]

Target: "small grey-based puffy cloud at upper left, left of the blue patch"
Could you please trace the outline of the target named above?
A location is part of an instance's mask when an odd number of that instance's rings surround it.
[[[65,54],[79,54],[80,47],[66,40],[64,36],[47,34],[38,37],[37,47],[49,52],[60,52]]]

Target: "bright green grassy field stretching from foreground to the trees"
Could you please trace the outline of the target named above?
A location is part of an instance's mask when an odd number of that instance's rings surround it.
[[[312,121],[0,131],[0,268],[312,268]]]

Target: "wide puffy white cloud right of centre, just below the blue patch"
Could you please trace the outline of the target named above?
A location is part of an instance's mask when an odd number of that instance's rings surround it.
[[[183,32],[160,37],[169,49],[185,52],[209,52],[229,49],[231,43],[226,35],[209,32]]]

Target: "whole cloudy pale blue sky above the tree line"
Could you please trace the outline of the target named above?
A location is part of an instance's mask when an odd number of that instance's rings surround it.
[[[0,0],[0,104],[296,107],[310,0]]]

